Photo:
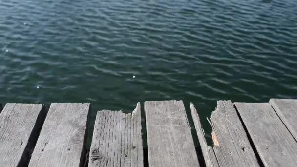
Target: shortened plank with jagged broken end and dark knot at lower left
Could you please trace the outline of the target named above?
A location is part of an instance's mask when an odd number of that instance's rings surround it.
[[[98,111],[89,167],[143,167],[140,103],[135,110]]]

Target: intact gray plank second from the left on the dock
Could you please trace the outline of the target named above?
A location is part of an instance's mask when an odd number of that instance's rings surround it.
[[[80,167],[85,161],[89,103],[53,103],[29,167]]]

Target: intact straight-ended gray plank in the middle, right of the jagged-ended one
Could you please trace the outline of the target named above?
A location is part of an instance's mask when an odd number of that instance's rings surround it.
[[[199,167],[182,101],[145,102],[150,167]]]

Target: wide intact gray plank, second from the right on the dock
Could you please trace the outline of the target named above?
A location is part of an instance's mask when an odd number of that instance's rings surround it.
[[[266,167],[297,167],[297,143],[269,103],[234,103]]]

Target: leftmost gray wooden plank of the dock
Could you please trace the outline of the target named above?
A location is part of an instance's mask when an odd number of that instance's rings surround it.
[[[42,104],[7,103],[0,114],[0,166],[26,166],[46,111]]]

